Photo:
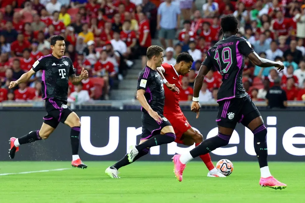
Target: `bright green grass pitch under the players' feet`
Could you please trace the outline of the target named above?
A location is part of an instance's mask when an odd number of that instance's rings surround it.
[[[183,181],[174,178],[172,162],[135,162],[121,168],[120,179],[105,175],[114,162],[0,162],[0,174],[69,168],[63,171],[0,175],[0,202],[19,203],[297,203],[304,202],[304,163],[270,162],[284,190],[261,188],[256,162],[233,162],[226,178],[206,177],[202,162],[188,163]],[[71,168],[71,169],[70,169]]]

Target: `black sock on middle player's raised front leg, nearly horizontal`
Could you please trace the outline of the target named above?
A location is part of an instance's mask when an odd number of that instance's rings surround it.
[[[135,148],[138,149],[138,151],[143,150],[145,148],[153,147],[153,146],[158,146],[158,145],[163,145],[163,144],[168,144],[171,142],[174,142],[176,139],[176,135],[174,133],[165,133],[164,135],[155,135],[145,142],[143,142],[140,145],[137,145]]]

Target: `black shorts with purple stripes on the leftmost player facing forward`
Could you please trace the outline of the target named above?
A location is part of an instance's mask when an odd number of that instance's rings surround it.
[[[66,101],[57,100],[54,98],[45,99],[45,110],[47,115],[43,117],[44,123],[52,128],[56,128],[59,122],[65,123],[67,117],[73,112]]]

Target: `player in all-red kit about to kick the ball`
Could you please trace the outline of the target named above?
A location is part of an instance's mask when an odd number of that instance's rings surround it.
[[[188,53],[181,53],[178,55],[175,65],[163,63],[157,70],[163,79],[166,79],[170,84],[176,86],[177,91],[170,91],[170,89],[164,88],[165,102],[163,112],[164,116],[170,121],[174,128],[176,134],[175,142],[188,146],[192,146],[195,143],[197,146],[203,141],[203,137],[198,131],[195,131],[192,128],[179,107],[181,78],[182,75],[186,75],[189,72],[189,69],[192,66],[192,64],[186,64],[184,62],[187,57],[192,56]],[[201,155],[200,158],[209,170],[209,173],[207,174],[208,177],[225,177],[223,174],[219,173],[213,165],[210,154]]]

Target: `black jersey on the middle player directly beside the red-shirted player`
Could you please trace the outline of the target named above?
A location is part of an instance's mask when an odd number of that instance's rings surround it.
[[[152,70],[146,66],[138,78],[137,90],[144,89],[144,96],[152,110],[163,114],[164,108],[164,88],[161,76],[156,70]],[[146,112],[141,107],[142,112]]]

